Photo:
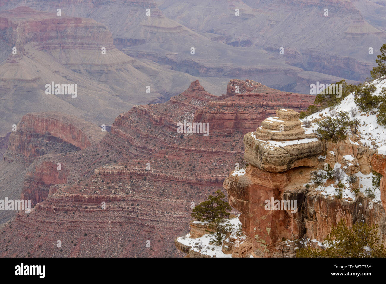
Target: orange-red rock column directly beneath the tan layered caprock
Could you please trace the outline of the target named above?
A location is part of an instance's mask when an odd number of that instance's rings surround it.
[[[293,240],[303,236],[305,227],[298,206],[303,203],[306,192],[303,189],[284,193],[284,188],[292,181],[293,170],[270,173],[254,166],[248,166],[243,176],[230,174],[225,179],[224,188],[228,192],[229,204],[242,213],[239,219],[243,232],[252,240],[252,255],[273,256],[273,248],[278,240],[283,237]],[[266,210],[266,200],[271,202],[272,198],[296,200],[297,208],[294,213],[290,209]]]

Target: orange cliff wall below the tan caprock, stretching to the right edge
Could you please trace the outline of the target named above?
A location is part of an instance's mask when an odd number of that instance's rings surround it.
[[[336,144],[328,144],[325,151],[331,151],[334,145],[336,147]],[[349,169],[347,174],[358,172],[357,159],[347,157],[349,149],[352,148],[347,146],[342,148],[344,142],[340,145],[340,160],[334,159],[334,162],[339,162],[346,171]],[[372,158],[374,169],[383,171],[386,159],[376,156]],[[354,163],[353,166],[348,166],[348,162]],[[324,163],[324,159],[319,159],[318,165],[314,168],[323,167]],[[242,212],[239,218],[243,232],[249,236],[253,244],[251,249],[253,256],[294,257],[295,247],[304,247],[306,240],[323,241],[331,232],[332,226],[340,220],[344,220],[349,227],[358,221],[365,221],[369,225],[378,224],[381,242],[386,243],[386,226],[383,223],[385,211],[379,202],[372,202],[362,193],[354,200],[337,199],[329,198],[316,191],[314,187],[306,188],[305,184],[310,182],[312,171],[313,168],[296,167],[274,173],[252,164],[245,171],[234,171],[225,179],[223,186],[229,194],[230,205]],[[359,182],[356,187],[359,188]],[[382,190],[381,199],[384,200]],[[267,200],[290,200],[294,203],[296,201],[296,210],[286,207],[272,210],[272,205],[271,210],[267,210],[264,208]],[[296,242],[291,250],[285,245],[280,245],[282,238],[286,242],[289,240]]]

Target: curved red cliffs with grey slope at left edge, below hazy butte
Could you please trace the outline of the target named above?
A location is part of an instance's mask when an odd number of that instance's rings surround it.
[[[0,164],[3,196],[18,199],[21,195],[30,199],[32,205],[43,201],[51,185],[67,183],[69,176],[65,159],[55,155],[91,147],[104,133],[92,123],[63,113],[24,115],[7,139],[8,148]],[[0,211],[0,220],[9,220],[15,214],[15,211]]]

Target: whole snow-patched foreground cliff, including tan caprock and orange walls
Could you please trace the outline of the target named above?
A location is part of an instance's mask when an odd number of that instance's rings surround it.
[[[376,82],[378,92],[385,82]],[[349,95],[330,114],[322,110],[301,122],[295,111],[277,110],[276,117],[244,136],[249,165],[232,171],[223,183],[229,204],[241,213],[243,257],[294,257],[301,247],[323,249],[323,240],[340,220],[348,227],[359,221],[376,224],[379,241],[386,243],[384,177],[380,189],[372,188],[372,170],[385,175],[384,127],[376,124],[374,114],[359,111],[352,116],[361,117],[362,125],[356,134],[349,130],[344,140],[320,140],[315,132],[318,121],[354,106]],[[331,170],[338,174],[328,176]],[[322,172],[320,181],[315,171]],[[190,234],[175,240],[176,247],[191,257],[213,256],[197,249],[194,240],[209,235],[195,223]],[[226,237],[224,246],[232,257],[240,256],[234,253],[240,242],[229,243]]]

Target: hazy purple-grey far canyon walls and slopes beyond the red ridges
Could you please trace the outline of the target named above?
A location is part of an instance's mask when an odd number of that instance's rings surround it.
[[[2,1],[0,136],[30,112],[66,112],[111,125],[133,105],[165,102],[196,79],[213,95],[221,95],[232,78],[293,93],[309,93],[316,81],[364,79],[386,38],[384,4],[327,1],[328,20],[313,1],[302,1],[301,12],[296,5],[281,0]],[[306,30],[295,32],[301,25]],[[357,48],[363,37],[374,54]],[[340,40],[344,53],[329,44]],[[77,84],[79,96],[44,95],[52,81]]]

